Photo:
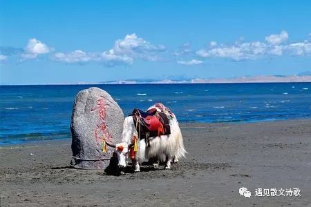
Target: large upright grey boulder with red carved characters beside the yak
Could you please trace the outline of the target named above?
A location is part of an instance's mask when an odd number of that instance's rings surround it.
[[[103,138],[111,143],[120,143],[124,115],[108,92],[100,88],[81,90],[75,97],[71,117],[70,166],[84,169],[103,169],[109,166],[113,148],[106,146]]]

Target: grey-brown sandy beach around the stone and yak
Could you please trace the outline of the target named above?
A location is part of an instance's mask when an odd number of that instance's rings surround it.
[[[70,168],[70,139],[1,146],[0,206],[311,206],[310,119],[180,126],[187,159],[120,176]],[[301,196],[255,197],[256,188]]]

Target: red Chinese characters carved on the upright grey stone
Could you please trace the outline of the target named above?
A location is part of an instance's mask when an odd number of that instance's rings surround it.
[[[102,123],[96,124],[94,128],[94,134],[95,134],[95,139],[97,141],[97,144],[102,144],[102,152],[106,153],[107,152],[107,145],[106,145],[106,140],[113,142],[111,135],[108,132],[108,126],[106,125],[106,103],[103,98],[97,100],[97,107],[91,109],[97,110],[100,115],[100,119]],[[103,135],[103,137],[100,137],[98,134],[99,133]]]

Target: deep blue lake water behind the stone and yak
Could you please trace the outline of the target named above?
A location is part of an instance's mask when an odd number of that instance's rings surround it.
[[[155,102],[180,122],[252,122],[311,118],[311,83],[93,85],[128,115]],[[90,85],[0,86],[0,144],[70,138],[75,95]]]

